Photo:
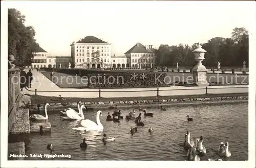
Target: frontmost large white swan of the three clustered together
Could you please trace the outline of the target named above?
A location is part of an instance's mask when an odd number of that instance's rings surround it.
[[[98,131],[103,130],[103,126],[100,123],[99,115],[102,116],[102,111],[97,112],[96,121],[97,124],[91,121],[90,119],[83,119],[81,121],[81,126],[85,128],[86,131]]]

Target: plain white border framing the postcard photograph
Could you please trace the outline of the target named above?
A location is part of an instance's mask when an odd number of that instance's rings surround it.
[[[81,2],[81,1],[80,1]],[[256,90],[256,8],[252,1],[228,1],[223,3],[241,3],[247,4],[248,10],[251,11],[248,16],[251,21],[249,28],[249,160],[248,161],[8,161],[7,160],[7,118],[8,118],[8,86],[7,86],[7,9],[13,8],[14,4],[21,3],[41,3],[41,7],[49,6],[49,3],[63,3],[63,1],[1,1],[1,167],[183,167],[183,166],[203,166],[203,167],[255,167],[255,90]],[[74,3],[65,1],[65,3]],[[78,2],[76,2],[78,3]],[[82,2],[81,2],[82,3]],[[87,2],[92,3],[92,2]],[[113,3],[113,2],[112,2]],[[134,2],[135,3],[135,2]],[[150,3],[148,1],[147,3]],[[152,2],[151,2],[152,3]],[[187,2],[170,2],[184,3]],[[211,3],[214,2],[197,1],[194,3]],[[218,4],[219,5],[219,4]],[[228,21],[228,20],[227,20]]]

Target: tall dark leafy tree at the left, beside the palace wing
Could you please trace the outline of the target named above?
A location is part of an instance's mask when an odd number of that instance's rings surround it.
[[[8,55],[14,55],[15,64],[30,66],[34,58],[36,40],[33,27],[24,25],[25,16],[16,9],[8,9]]]

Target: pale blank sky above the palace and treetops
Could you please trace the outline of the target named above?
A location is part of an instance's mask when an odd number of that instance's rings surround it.
[[[232,29],[249,29],[251,2],[182,1],[15,1],[33,26],[35,39],[50,56],[70,56],[70,44],[86,36],[112,43],[123,56],[143,45],[192,45],[214,37],[231,37]],[[253,13],[255,14],[255,12]]]

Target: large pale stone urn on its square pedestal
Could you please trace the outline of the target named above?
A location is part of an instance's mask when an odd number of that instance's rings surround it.
[[[209,86],[206,76],[208,69],[206,69],[206,67],[202,64],[202,61],[204,60],[204,53],[206,53],[206,51],[202,49],[201,45],[198,45],[193,51],[195,60],[197,61],[197,65],[192,69],[193,80],[197,86]]]

